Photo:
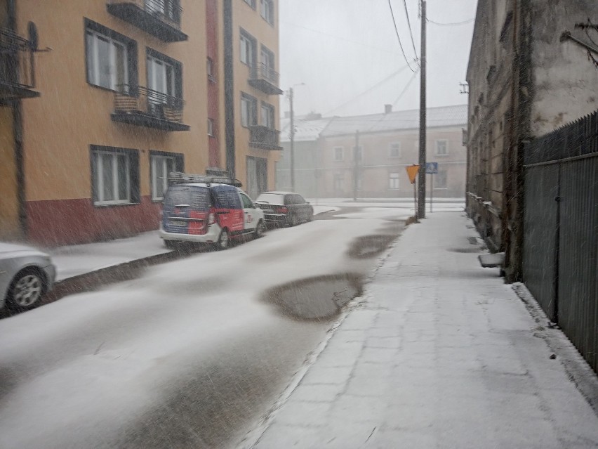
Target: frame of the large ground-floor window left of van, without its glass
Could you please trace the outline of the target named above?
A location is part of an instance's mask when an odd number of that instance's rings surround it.
[[[119,156],[126,157],[126,198],[117,200],[104,200],[103,160],[99,155],[112,157],[112,196],[119,197]],[[131,148],[106,147],[90,145],[91,162],[91,201],[95,207],[125,206],[139,204],[139,152]]]

